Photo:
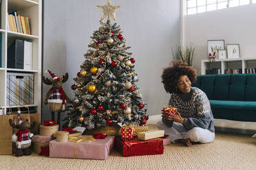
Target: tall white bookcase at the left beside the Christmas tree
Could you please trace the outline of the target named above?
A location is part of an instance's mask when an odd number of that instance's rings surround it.
[[[28,16],[30,20],[31,35],[11,32],[8,30],[8,12],[16,11],[21,16]],[[17,108],[7,105],[7,74],[32,73],[34,75],[34,104],[28,107],[36,108],[41,112],[41,47],[42,47],[42,0],[1,0],[1,65],[0,65],[0,106],[5,108]],[[8,47],[14,39],[28,40],[32,42],[32,70],[10,69],[7,67]],[[22,107],[22,106],[21,106]]]

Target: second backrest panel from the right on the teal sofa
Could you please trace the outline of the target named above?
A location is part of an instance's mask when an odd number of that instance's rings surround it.
[[[231,75],[228,100],[244,101],[247,75]]]

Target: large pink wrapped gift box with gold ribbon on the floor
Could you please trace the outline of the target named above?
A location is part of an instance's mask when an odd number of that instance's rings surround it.
[[[84,138],[86,136],[80,136]],[[50,157],[54,158],[84,158],[105,160],[114,148],[114,136],[95,141],[66,142],[50,141]]]

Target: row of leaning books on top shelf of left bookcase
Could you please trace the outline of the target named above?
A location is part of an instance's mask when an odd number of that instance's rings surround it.
[[[10,12],[8,14],[8,30],[31,35],[28,16],[21,16],[17,12]]]

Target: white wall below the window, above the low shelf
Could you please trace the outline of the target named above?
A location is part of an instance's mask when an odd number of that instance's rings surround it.
[[[207,40],[223,39],[225,45],[239,44],[242,58],[256,57],[256,4],[184,16],[184,41],[197,46],[198,73],[201,60],[208,59]]]

